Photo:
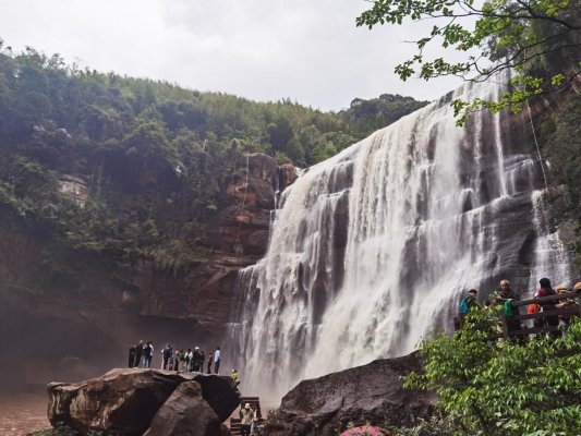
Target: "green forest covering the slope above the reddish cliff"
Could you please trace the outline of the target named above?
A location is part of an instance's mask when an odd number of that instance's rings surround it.
[[[206,254],[201,226],[225,206],[243,154],[312,166],[425,104],[385,94],[335,113],[255,102],[0,40],[0,226],[46,241],[39,290],[78,280],[83,256],[129,269],[149,258],[179,274]],[[87,184],[84,207],[59,195],[62,174]]]

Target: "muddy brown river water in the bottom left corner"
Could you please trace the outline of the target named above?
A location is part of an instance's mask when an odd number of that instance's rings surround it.
[[[0,435],[22,436],[50,427],[48,398],[41,393],[0,393]]]

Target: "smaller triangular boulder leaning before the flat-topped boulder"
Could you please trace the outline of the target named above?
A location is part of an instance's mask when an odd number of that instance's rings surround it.
[[[144,436],[222,436],[220,420],[197,382],[184,382],[157,411]]]

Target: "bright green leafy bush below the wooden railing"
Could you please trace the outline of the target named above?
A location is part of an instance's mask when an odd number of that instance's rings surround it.
[[[489,340],[495,315],[471,311],[453,337],[424,341],[425,373],[404,383],[438,393],[438,405],[470,435],[581,432],[581,322],[558,338],[525,344]]]

